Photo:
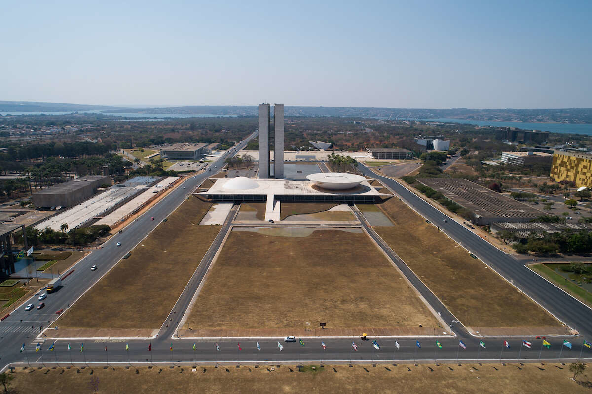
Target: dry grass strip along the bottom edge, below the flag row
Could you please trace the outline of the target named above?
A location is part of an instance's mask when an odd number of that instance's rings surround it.
[[[463,364],[297,367],[212,366],[147,369],[102,367],[22,370],[12,374],[19,393],[589,393],[589,378],[571,380],[569,364]],[[494,368],[495,367],[495,368]],[[92,375],[91,375],[92,371]],[[78,373],[79,372],[79,373]]]

